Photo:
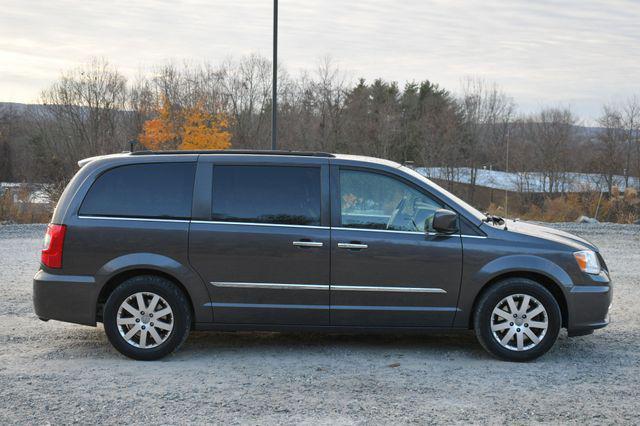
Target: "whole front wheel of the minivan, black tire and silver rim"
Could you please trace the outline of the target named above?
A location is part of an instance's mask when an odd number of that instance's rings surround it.
[[[509,278],[492,285],[481,295],[474,312],[478,341],[491,355],[506,361],[531,361],[545,354],[561,327],[556,299],[544,286],[527,278]]]

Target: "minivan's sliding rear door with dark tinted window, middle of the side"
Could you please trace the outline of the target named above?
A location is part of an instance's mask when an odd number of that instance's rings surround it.
[[[225,162],[210,175],[211,217],[192,221],[189,256],[214,322],[328,325],[327,166]]]

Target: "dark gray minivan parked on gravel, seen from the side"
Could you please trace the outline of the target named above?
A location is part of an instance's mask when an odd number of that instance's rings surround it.
[[[608,324],[574,235],[485,215],[400,164],[289,151],[83,160],[47,228],[36,315],[151,360],[190,330],[473,329],[494,356]]]

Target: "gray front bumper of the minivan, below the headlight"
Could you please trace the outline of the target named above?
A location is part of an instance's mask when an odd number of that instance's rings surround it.
[[[613,286],[606,274],[594,277],[594,284],[573,286],[567,295],[569,336],[589,334],[609,324]]]

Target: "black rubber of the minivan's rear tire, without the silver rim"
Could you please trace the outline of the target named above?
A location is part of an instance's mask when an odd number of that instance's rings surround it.
[[[173,328],[167,333],[166,340],[151,348],[140,348],[127,342],[117,325],[118,310],[122,303],[140,292],[160,296],[172,310]],[[182,290],[170,280],[154,275],[140,275],[129,278],[113,290],[104,305],[103,323],[107,338],[118,352],[129,358],[151,361],[182,346],[191,329],[191,308]]]

